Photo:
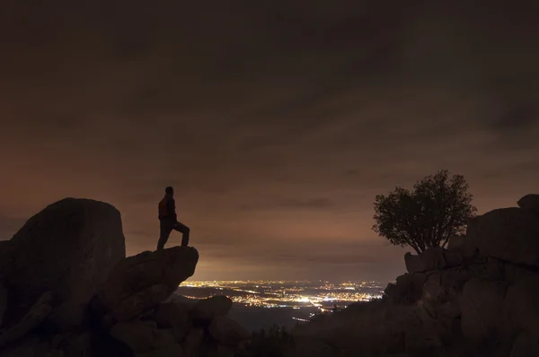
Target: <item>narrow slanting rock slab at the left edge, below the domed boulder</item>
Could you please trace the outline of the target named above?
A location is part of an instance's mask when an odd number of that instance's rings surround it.
[[[40,325],[52,310],[50,306],[51,300],[52,292],[45,292],[19,322],[4,329],[2,334],[0,334],[0,347],[12,343],[28,334],[34,327]]]

